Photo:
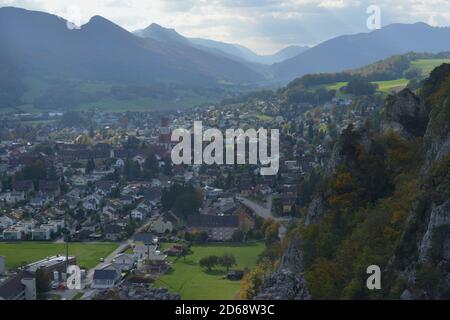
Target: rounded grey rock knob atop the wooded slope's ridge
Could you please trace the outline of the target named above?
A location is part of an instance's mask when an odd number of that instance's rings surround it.
[[[422,137],[428,123],[425,103],[411,90],[404,89],[386,99],[381,130],[393,130],[405,139]]]

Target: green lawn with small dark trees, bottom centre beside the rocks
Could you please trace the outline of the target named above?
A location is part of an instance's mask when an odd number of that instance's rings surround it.
[[[253,268],[258,255],[264,250],[264,243],[246,244],[206,244],[192,246],[192,254],[173,260],[173,270],[156,280],[156,286],[169,288],[188,300],[232,300],[239,293],[239,281],[225,279],[226,270],[220,267],[211,272],[200,268],[198,261],[210,255],[221,256],[231,253],[236,258],[237,266],[233,269]]]

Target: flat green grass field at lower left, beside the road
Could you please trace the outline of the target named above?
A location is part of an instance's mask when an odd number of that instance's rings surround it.
[[[71,243],[69,255],[76,256],[78,265],[95,267],[100,258],[105,258],[118,247],[115,243]],[[44,242],[1,242],[0,255],[6,258],[6,267],[13,268],[22,262],[31,263],[48,256],[65,254],[64,244]]]

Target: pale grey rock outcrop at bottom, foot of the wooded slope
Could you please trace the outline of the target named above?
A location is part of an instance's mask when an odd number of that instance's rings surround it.
[[[266,279],[255,300],[311,299],[302,272],[303,253],[300,250],[300,238],[294,237],[283,254],[278,271]]]

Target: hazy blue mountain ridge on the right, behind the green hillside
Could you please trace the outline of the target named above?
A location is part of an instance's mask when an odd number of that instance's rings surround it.
[[[293,58],[274,64],[276,79],[289,81],[308,73],[329,73],[359,68],[408,52],[439,53],[450,49],[450,28],[426,23],[391,24],[369,33],[325,41]]]

